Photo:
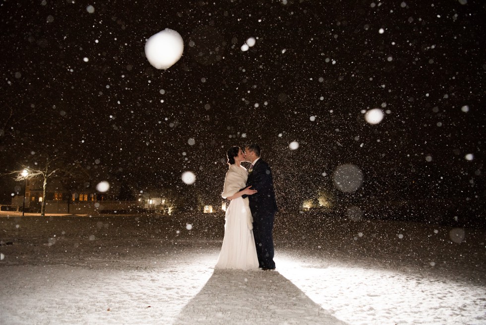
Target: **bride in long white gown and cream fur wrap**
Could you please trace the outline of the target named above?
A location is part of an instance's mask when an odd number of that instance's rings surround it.
[[[255,240],[253,239],[253,219],[248,205],[248,198],[255,190],[246,186],[248,175],[240,165],[244,161],[242,149],[234,146],[228,149],[228,164],[225,185],[221,196],[231,200],[225,216],[225,236],[214,268],[258,269]],[[240,191],[241,190],[241,191]]]

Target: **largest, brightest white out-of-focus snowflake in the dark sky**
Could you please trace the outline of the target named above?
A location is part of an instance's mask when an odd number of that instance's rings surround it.
[[[184,41],[175,30],[166,28],[150,36],[145,43],[145,56],[157,69],[168,69],[182,57]]]

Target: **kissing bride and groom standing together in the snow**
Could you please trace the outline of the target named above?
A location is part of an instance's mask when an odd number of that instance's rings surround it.
[[[221,196],[230,204],[216,269],[275,269],[272,233],[278,208],[272,171],[260,154],[257,144],[227,151],[229,169]],[[243,161],[251,162],[248,171]]]

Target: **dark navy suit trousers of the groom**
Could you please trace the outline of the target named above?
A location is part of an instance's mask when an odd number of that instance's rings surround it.
[[[275,268],[273,260],[273,223],[275,212],[253,215],[253,237],[259,267]]]

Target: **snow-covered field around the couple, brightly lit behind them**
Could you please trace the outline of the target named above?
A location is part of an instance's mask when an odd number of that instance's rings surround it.
[[[0,215],[0,324],[486,324],[485,231],[278,215],[277,271],[214,271],[222,215]]]

